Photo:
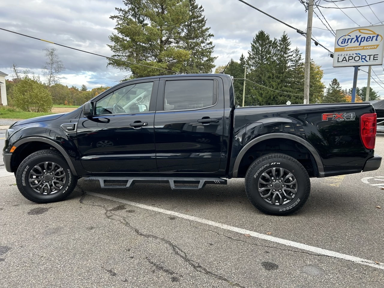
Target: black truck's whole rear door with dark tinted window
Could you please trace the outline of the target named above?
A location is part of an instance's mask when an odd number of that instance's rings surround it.
[[[223,102],[219,77],[160,80],[155,114],[159,172],[212,173],[219,169]]]

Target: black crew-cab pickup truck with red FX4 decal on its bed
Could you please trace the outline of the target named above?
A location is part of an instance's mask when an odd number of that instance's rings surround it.
[[[375,137],[369,103],[236,107],[229,75],[189,74],[125,81],[70,113],[17,121],[3,158],[36,203],[65,199],[79,177],[172,189],[245,178],[257,209],[285,215],[308,199],[310,177],[378,169]]]

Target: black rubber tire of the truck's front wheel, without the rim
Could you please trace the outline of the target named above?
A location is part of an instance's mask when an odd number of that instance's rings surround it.
[[[63,168],[66,179],[63,188],[61,188],[58,192],[48,195],[40,194],[30,187],[28,183],[29,173],[35,165],[41,162],[54,162]],[[62,199],[66,194],[72,191],[71,187],[75,182],[74,176],[68,164],[60,157],[49,155],[33,157],[32,159],[28,159],[27,157],[27,159],[25,159],[17,169],[16,180],[17,187],[20,191],[23,190],[23,192],[28,194],[29,197],[41,202],[54,202],[56,200]]]

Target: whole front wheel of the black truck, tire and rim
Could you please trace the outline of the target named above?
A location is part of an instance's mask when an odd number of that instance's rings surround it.
[[[20,193],[35,203],[64,200],[76,187],[64,157],[56,150],[45,149],[26,157],[17,169],[16,184]]]

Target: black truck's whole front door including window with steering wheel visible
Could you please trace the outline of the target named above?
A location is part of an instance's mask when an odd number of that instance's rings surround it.
[[[158,83],[119,85],[97,99],[92,118],[79,120],[77,140],[85,170],[157,172],[154,110]]]

